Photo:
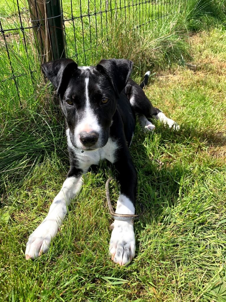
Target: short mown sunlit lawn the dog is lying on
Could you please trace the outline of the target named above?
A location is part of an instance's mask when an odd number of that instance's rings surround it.
[[[104,187],[112,172],[105,163],[96,175],[87,174],[48,254],[25,261],[27,237],[45,217],[67,173],[61,143],[56,153],[47,149],[19,182],[7,183],[2,300],[225,301],[226,85],[224,76],[201,64],[204,54],[197,51],[212,41],[206,54],[221,62],[225,41],[220,37],[217,29],[194,37],[194,60],[201,66],[195,74],[175,67],[146,89],[153,104],[181,128],[173,132],[157,123],[155,133],[146,135],[137,125],[131,154],[138,171],[137,211],[141,203],[144,214],[135,222],[133,262],[120,268],[108,256],[111,219]],[[161,169],[156,160],[163,162]]]

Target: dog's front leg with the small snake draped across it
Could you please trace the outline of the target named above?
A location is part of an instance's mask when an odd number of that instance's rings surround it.
[[[120,183],[120,194],[115,213],[135,214],[135,198],[137,187],[137,173],[129,155],[119,156],[120,160],[115,163]],[[111,259],[119,265],[125,265],[135,256],[135,235],[133,220],[114,220],[113,230],[109,246]]]

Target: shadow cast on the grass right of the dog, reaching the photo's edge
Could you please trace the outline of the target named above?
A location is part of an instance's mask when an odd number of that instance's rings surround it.
[[[179,131],[174,131],[159,125],[154,133],[142,133],[137,131],[134,140],[141,141],[139,148],[133,144],[131,146],[131,154],[133,162],[137,169],[138,188],[137,188],[137,213],[142,213],[142,217],[146,220],[156,219],[162,215],[165,206],[172,207],[180,202],[180,194],[187,194],[187,181],[189,185],[196,182],[197,175],[191,170],[190,159],[187,161],[180,160],[180,153],[174,153],[170,145],[180,145],[191,150],[193,153],[202,154],[209,146],[226,146],[226,136],[224,133],[214,133],[212,131],[198,131],[195,128],[182,126]],[[148,154],[145,145],[147,136],[149,144],[156,144],[155,135],[159,135],[159,145],[154,146],[152,155]],[[169,158],[165,164],[158,160],[159,154],[155,156],[158,147],[162,147],[161,156],[164,153],[169,154]],[[166,150],[164,151],[164,148]],[[173,147],[172,147],[173,149]],[[169,150],[169,151],[168,151]],[[194,159],[195,161],[195,159]],[[201,175],[199,175],[199,178]],[[186,185],[185,183],[186,178]],[[165,205],[165,206],[164,206]]]

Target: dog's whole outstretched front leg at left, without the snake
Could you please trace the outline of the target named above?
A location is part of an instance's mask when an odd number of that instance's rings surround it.
[[[71,199],[79,193],[82,184],[81,171],[70,170],[60,192],[49,208],[48,215],[29,236],[25,251],[26,259],[35,259],[49,250],[50,242],[56,236],[67,214],[67,207]]]

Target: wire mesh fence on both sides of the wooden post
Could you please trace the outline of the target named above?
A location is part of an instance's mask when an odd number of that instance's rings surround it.
[[[52,50],[62,42],[57,36],[53,38],[52,28],[61,30],[56,20],[62,23],[65,49],[58,56],[66,55],[79,65],[87,65],[96,62],[103,50],[107,56],[113,31],[120,34],[156,29],[174,13],[178,1],[61,0],[60,11],[55,12],[51,11],[51,0],[50,8],[44,0],[0,0],[0,85],[4,91],[13,83],[20,98],[20,81],[24,77],[32,81],[40,62],[56,59]]]

